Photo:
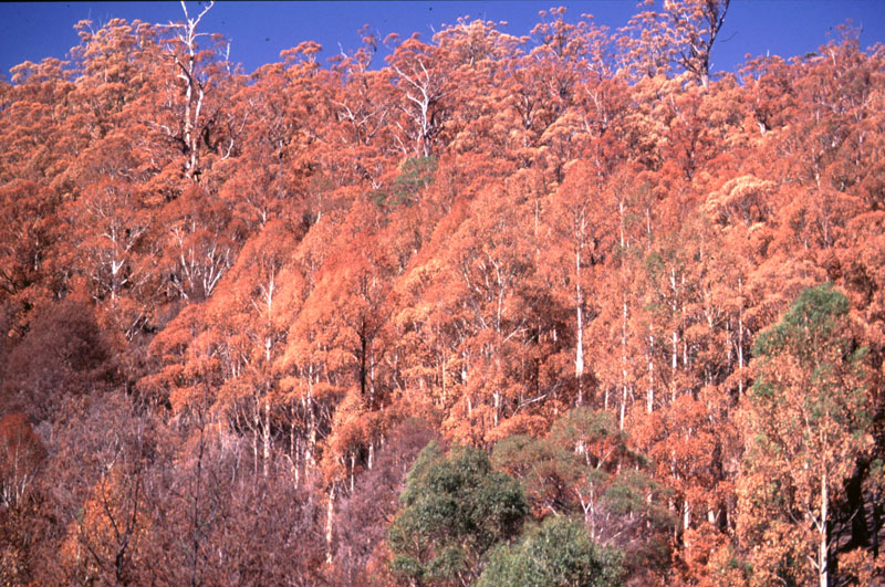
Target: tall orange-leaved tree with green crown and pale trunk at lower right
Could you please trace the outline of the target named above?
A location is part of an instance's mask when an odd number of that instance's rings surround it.
[[[753,346],[739,531],[761,583],[830,584],[831,509],[871,444],[865,349],[847,314],[832,284],[808,289]]]

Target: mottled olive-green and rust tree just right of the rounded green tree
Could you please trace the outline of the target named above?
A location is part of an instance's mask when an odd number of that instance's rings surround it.
[[[652,574],[667,563],[670,495],[628,440],[611,412],[575,408],[553,422],[548,438],[499,441],[492,462],[525,484],[537,517],[581,516],[593,544],[624,553],[631,572]]]

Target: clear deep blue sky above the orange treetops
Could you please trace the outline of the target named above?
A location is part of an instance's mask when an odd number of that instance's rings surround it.
[[[235,2],[218,1],[201,30],[220,32],[231,41],[231,61],[247,72],[280,61],[280,51],[301,41],[323,45],[324,56],[358,45],[356,31],[369,24],[383,39],[396,32],[433,36],[459,15],[507,21],[504,32],[528,34],[539,21],[539,10],[569,8],[566,18],[591,13],[600,24],[616,29],[637,12],[634,0],[568,1],[388,1],[388,2]],[[198,2],[188,2],[191,14]],[[112,18],[167,23],[183,18],[178,2],[0,2],[0,73],[23,61],[63,59],[79,43],[74,24],[82,19],[96,27]],[[862,46],[885,42],[885,0],[732,0],[720,40],[714,49],[712,69],[733,71],[745,55],[790,57],[814,51],[827,31],[852,19],[863,29]]]

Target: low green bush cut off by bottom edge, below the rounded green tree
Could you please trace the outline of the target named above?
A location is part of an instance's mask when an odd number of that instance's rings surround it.
[[[552,517],[527,533],[518,544],[499,546],[478,585],[621,585],[622,558],[621,553],[593,544],[581,522]]]

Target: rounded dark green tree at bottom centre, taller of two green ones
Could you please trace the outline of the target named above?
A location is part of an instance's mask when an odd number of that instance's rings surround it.
[[[492,470],[485,452],[436,443],[418,455],[388,532],[395,575],[445,583],[478,575],[482,557],[510,539],[528,514],[519,483]]]

